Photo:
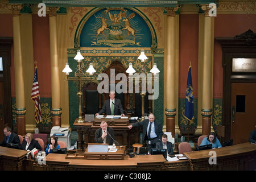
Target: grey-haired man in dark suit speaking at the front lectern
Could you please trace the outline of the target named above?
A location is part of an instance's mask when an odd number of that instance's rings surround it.
[[[112,127],[108,126],[106,121],[102,121],[101,128],[95,132],[95,143],[108,143],[109,145],[113,145],[113,139],[115,139],[114,130]]]

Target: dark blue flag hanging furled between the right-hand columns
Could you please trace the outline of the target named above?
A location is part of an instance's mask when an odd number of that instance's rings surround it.
[[[193,85],[191,77],[191,65],[188,68],[188,80],[187,80],[187,89],[186,89],[186,100],[185,100],[185,118],[189,121],[192,121],[194,118],[194,101],[193,101]]]

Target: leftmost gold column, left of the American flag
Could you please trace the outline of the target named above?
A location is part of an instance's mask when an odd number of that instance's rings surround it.
[[[8,6],[13,11],[13,45],[14,45],[14,69],[15,69],[15,94],[16,94],[16,122],[17,134],[26,134],[26,107],[24,94],[24,77],[22,63],[22,43],[20,35],[20,10],[22,4]]]

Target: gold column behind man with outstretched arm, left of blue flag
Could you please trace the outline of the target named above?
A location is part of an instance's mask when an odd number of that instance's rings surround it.
[[[176,19],[175,11],[178,7],[168,7],[165,28],[164,42],[164,96],[165,96],[165,114],[166,131],[172,133],[175,137],[175,117],[177,108],[177,84],[179,67],[179,21]]]

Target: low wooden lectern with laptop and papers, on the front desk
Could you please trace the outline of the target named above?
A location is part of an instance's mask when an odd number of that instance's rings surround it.
[[[117,151],[110,152],[108,144],[88,143],[85,152],[68,153],[65,159],[123,160],[125,146],[116,146],[116,149]]]

